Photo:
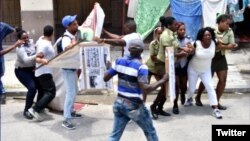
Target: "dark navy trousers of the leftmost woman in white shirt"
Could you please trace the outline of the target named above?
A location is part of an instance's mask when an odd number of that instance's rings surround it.
[[[28,89],[26,94],[25,108],[24,111],[28,111],[32,107],[34,97],[38,90],[37,98],[39,99],[42,91],[38,85],[38,80],[35,77],[35,72],[33,68],[18,68],[15,69],[15,74],[17,79]]]

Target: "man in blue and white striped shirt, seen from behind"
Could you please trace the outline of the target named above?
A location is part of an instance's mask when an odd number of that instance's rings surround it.
[[[148,68],[141,63],[143,47],[142,40],[131,40],[130,55],[118,58],[104,74],[104,81],[108,81],[118,74],[118,97],[113,106],[114,128],[109,141],[119,140],[130,120],[136,122],[143,129],[148,141],[158,141],[150,113],[143,102],[143,94],[150,93],[165,83],[168,75],[164,75],[154,84],[148,84]]]

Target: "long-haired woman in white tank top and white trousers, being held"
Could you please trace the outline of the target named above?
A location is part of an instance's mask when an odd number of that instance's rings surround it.
[[[195,92],[198,78],[200,78],[207,90],[210,105],[214,109],[214,116],[221,119],[222,115],[218,109],[218,101],[211,75],[211,63],[216,49],[214,30],[210,27],[200,29],[194,47],[195,53],[188,64],[189,88],[184,106],[192,105],[192,96]]]

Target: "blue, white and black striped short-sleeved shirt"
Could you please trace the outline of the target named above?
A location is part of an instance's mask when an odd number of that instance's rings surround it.
[[[118,74],[118,93],[127,98],[138,98],[142,100],[142,90],[139,83],[148,83],[148,68],[139,59],[129,56],[118,58],[113,63],[108,74]]]

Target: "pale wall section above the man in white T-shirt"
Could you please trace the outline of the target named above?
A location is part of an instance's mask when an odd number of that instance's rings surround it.
[[[53,0],[20,0],[21,24],[36,41],[45,25],[54,26]]]

